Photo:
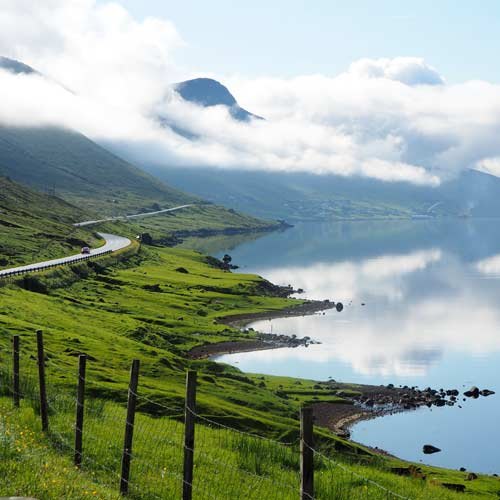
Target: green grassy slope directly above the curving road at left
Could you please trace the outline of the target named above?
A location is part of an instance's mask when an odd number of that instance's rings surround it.
[[[0,177],[0,268],[78,252],[100,241],[72,222],[89,215],[60,198]]]

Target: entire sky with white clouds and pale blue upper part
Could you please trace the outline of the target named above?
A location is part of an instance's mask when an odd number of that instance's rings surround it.
[[[500,175],[500,3],[455,3],[0,0],[0,55],[40,72],[0,69],[0,124],[165,168]],[[197,76],[265,120],[184,101],[172,84]]]

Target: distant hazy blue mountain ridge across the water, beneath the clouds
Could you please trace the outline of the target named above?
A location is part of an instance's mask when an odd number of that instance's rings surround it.
[[[179,189],[257,217],[289,220],[500,214],[500,179],[466,170],[436,188],[362,177],[147,166]]]

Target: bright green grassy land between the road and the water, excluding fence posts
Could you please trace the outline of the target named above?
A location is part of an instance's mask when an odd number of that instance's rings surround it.
[[[113,268],[103,262],[79,264],[36,279],[46,293],[15,285],[0,288],[0,366],[8,369],[10,339],[18,334],[23,369],[33,373],[34,332],[44,331],[53,433],[39,434],[32,408],[36,404],[29,398],[15,413],[2,400],[0,494],[116,498],[128,371],[137,358],[141,416],[133,498],[179,498],[187,368],[199,373],[197,411],[210,420],[201,420],[207,425],[197,429],[195,498],[297,498],[299,408],[311,400],[342,399],[312,380],[246,375],[208,360],[190,361],[186,352],[203,343],[254,336],[221,324],[220,318],[300,301],[274,297],[261,278],[222,271],[205,256],[180,248],[143,248]],[[90,356],[88,392],[93,401],[86,427],[87,462],[77,473],[70,451],[81,352]],[[5,392],[6,384],[0,387]],[[427,467],[422,467],[425,481],[399,477],[390,472],[401,465],[398,461],[375,456],[326,429],[317,428],[316,439],[318,449],[330,457],[316,457],[318,498],[391,498],[363,478],[422,499],[456,498],[438,486],[442,482],[466,484],[469,498],[496,498],[500,488],[497,478],[465,481],[464,473]]]

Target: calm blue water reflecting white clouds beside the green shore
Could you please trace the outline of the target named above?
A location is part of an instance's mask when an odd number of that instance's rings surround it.
[[[299,225],[231,248],[243,272],[293,284],[342,313],[259,321],[321,345],[221,356],[248,372],[498,392],[463,408],[357,424],[352,438],[402,458],[500,473],[500,228],[497,220]],[[365,304],[364,306],[362,304]],[[422,454],[423,444],[443,451]]]

